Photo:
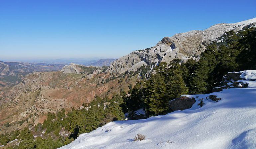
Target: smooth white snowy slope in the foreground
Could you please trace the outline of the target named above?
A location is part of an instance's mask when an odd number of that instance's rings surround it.
[[[115,121],[60,149],[256,149],[256,71],[244,71],[248,88],[196,98],[191,109],[142,120]],[[217,95],[215,102],[208,98]],[[204,98],[205,105],[198,106]],[[146,140],[133,141],[137,133]]]

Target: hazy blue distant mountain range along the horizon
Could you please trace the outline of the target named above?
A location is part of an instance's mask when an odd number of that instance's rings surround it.
[[[72,60],[72,59],[69,59]],[[68,62],[70,62],[68,60]],[[74,60],[77,64],[84,66],[109,66],[116,59],[106,58],[99,60]],[[24,76],[32,72],[60,71],[63,66],[68,65],[67,61],[52,61],[53,63],[25,63],[25,62],[3,62],[0,61],[0,87],[18,84]],[[63,63],[61,63],[63,62]]]

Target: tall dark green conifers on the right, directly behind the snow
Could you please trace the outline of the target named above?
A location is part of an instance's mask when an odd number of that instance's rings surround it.
[[[174,59],[170,68],[161,62],[155,67],[155,74],[143,80],[123,98],[120,105],[123,112],[133,113],[143,108],[147,116],[169,112],[167,103],[182,94],[210,93],[213,87],[221,85],[222,76],[230,71],[256,69],[256,30],[244,29],[235,33],[229,31],[220,37],[221,42],[205,45],[199,61],[192,58],[186,63]],[[179,65],[181,64],[181,65]],[[140,68],[146,72],[145,66]]]

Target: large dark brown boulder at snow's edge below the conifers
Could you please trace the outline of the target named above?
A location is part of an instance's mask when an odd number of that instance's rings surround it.
[[[195,103],[195,99],[181,96],[169,102],[169,108],[172,111],[189,109]]]

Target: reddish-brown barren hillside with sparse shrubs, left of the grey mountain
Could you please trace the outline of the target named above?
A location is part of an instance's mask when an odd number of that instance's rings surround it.
[[[112,77],[102,68],[92,74],[57,72],[34,72],[17,85],[0,89],[1,133],[24,128],[28,124],[43,122],[47,112],[70,111],[88,104],[96,95],[112,97],[120,89],[128,92],[128,86],[135,84],[138,74]],[[34,114],[36,113],[36,114]],[[22,120],[28,119],[28,122]],[[3,126],[6,122],[10,127]]]

